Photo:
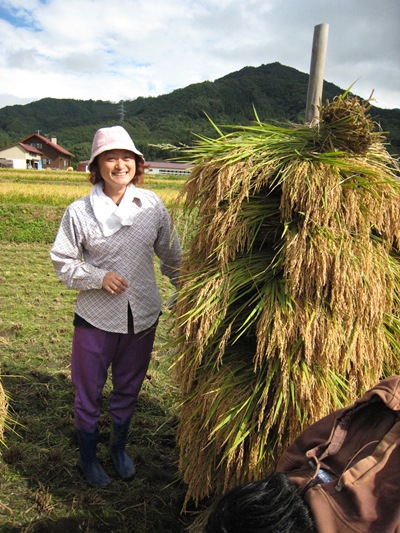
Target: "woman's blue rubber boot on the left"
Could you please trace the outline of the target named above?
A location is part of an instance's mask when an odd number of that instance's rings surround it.
[[[96,457],[98,431],[87,433],[76,428],[79,442],[78,466],[92,487],[106,487],[111,483]]]

